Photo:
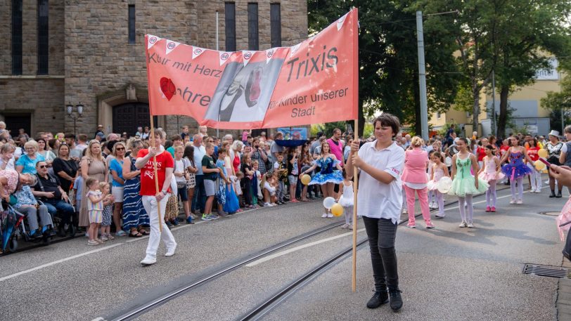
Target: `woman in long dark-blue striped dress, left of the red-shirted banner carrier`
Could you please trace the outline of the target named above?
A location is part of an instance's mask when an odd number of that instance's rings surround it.
[[[127,148],[131,151],[129,157],[123,162],[123,229],[129,231],[129,237],[141,237],[147,232],[143,226],[149,225],[148,214],[143,208],[141,201],[141,171],[136,169],[135,161],[139,150],[143,148],[143,142],[139,138],[131,138],[127,141]]]

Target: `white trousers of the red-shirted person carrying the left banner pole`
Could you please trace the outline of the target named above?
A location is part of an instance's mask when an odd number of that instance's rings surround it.
[[[170,232],[167,224],[165,223],[165,210],[167,209],[167,202],[169,201],[169,194],[165,195],[165,198],[160,201],[160,214],[162,219],[160,223],[162,224],[162,233],[159,232],[159,214],[157,211],[157,199],[154,196],[143,195],[143,207],[148,213],[150,219],[150,235],[148,238],[147,245],[147,258],[156,258],[157,250],[159,248],[159,242],[165,242],[167,250],[171,249],[177,242],[174,242],[174,237]]]

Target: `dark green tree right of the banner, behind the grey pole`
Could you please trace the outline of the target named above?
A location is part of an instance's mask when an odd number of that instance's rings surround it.
[[[395,114],[421,132],[415,1],[309,0],[309,32],[318,32],[355,6],[359,8],[359,133],[376,111]],[[441,17],[425,19],[429,112],[454,101],[454,38]],[[357,129],[356,129],[357,130]]]

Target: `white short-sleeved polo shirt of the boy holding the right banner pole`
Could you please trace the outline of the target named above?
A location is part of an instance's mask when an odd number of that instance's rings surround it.
[[[387,148],[377,150],[376,143],[377,140],[374,140],[361,146],[359,157],[374,168],[389,173],[394,179],[385,184],[377,181],[366,171],[361,171],[357,214],[370,218],[390,219],[396,224],[402,209],[401,175],[404,167],[404,150],[394,142]]]

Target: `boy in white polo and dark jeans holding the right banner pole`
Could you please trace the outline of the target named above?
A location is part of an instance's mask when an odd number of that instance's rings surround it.
[[[367,308],[378,308],[390,300],[390,308],[397,311],[402,307],[402,298],[394,238],[402,207],[404,150],[392,140],[400,130],[397,117],[383,113],[373,120],[373,127],[373,142],[359,148],[359,140],[353,140],[345,170],[347,176],[353,176],[353,165],[361,170],[357,214],[363,216],[375,281],[375,294]]]

